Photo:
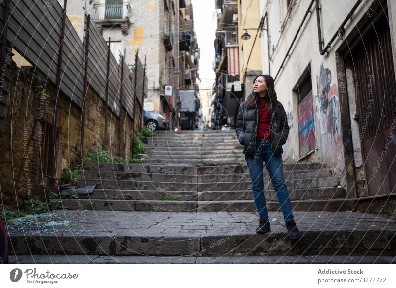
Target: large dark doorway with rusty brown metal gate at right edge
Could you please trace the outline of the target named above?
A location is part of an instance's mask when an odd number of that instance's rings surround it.
[[[396,83],[386,12],[346,58],[352,68],[368,195],[396,192]]]

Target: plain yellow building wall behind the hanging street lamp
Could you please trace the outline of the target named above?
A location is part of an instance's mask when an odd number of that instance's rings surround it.
[[[259,1],[237,1],[238,2],[238,41],[239,41],[239,54],[240,54],[240,71],[239,75],[241,81],[244,79],[245,71],[263,70],[262,67],[262,51],[261,51],[261,38],[257,36],[256,43],[253,47],[254,38],[256,33],[260,33],[259,30],[247,30],[250,34],[249,40],[242,40],[241,36],[245,33],[243,28],[258,28],[260,25],[260,9]],[[262,31],[265,32],[265,31]],[[250,60],[247,66],[247,59]]]

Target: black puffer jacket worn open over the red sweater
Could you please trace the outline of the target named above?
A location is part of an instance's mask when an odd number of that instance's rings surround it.
[[[252,157],[255,154],[257,139],[258,110],[258,105],[247,109],[246,101],[244,101],[239,107],[235,128],[239,142],[245,146],[244,154]],[[282,145],[288,139],[289,124],[285,109],[278,100],[272,106],[270,130],[272,152],[275,156],[281,155],[283,153]]]

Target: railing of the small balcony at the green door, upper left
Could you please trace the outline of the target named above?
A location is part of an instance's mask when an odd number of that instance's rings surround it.
[[[94,4],[94,20],[128,19],[132,13],[132,6],[128,2],[119,4]]]

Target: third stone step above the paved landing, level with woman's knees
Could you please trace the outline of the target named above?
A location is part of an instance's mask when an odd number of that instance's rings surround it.
[[[177,180],[177,179],[175,179]],[[177,180],[178,181],[178,180]],[[233,191],[245,190],[251,187],[251,181],[233,182],[184,182],[184,181],[143,181],[143,180],[107,180],[107,179],[77,179],[76,185],[84,187],[96,184],[97,189],[132,189],[132,190],[172,190],[172,191]],[[285,179],[287,187],[315,188],[337,187],[338,177],[316,177],[299,179]],[[264,190],[272,189],[268,177],[264,179]]]

